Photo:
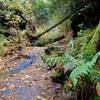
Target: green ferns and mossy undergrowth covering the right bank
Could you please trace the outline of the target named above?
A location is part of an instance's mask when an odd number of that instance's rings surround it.
[[[72,42],[69,41],[66,44],[66,50],[63,55],[45,55],[43,57],[44,62],[49,67],[57,64],[63,65],[67,81],[67,84],[65,81],[67,85],[65,89],[72,88],[72,90],[75,90],[77,86],[80,86],[82,91],[86,91],[85,88],[88,86],[87,81],[92,85],[96,85],[97,82],[100,82],[100,68],[98,68],[96,64],[100,55],[100,52],[96,52],[96,42],[99,37],[100,24],[96,29],[87,30],[84,34],[72,39]],[[55,74],[54,72],[52,78],[58,78],[59,75],[60,73],[57,72],[57,74]],[[69,86],[68,80],[71,81],[71,87]],[[80,84],[80,82],[82,84]],[[83,84],[84,87],[82,87]]]

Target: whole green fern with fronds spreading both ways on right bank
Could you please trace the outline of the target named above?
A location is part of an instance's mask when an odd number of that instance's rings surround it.
[[[100,52],[98,52],[92,60],[87,61],[85,59],[75,59],[70,54],[65,53],[62,56],[44,56],[44,62],[48,66],[53,66],[55,64],[64,64],[64,70],[67,71],[68,67],[72,67],[73,71],[70,74],[70,79],[73,82],[73,85],[76,86],[78,79],[85,77],[93,70],[93,67],[97,61]],[[92,81],[97,81],[100,79],[100,74],[95,74],[92,72]]]

